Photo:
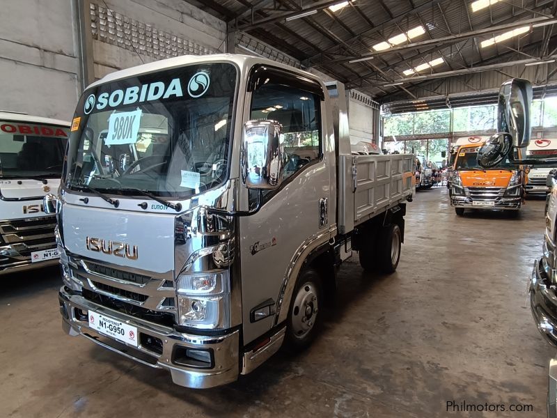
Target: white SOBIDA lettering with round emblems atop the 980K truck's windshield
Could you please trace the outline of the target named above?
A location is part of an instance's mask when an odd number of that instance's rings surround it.
[[[196,72],[187,85],[187,91],[192,98],[204,95],[210,84],[209,75],[206,72]],[[84,103],[84,114],[90,114],[93,109],[102,110],[107,107],[118,107],[120,104],[134,104],[150,102],[152,100],[168,99],[171,97],[181,98],[182,83],[179,78],[172,79],[168,86],[164,82],[152,82],[139,86],[128,87],[125,90],[118,89],[111,93],[101,93],[97,98],[93,93],[87,96]]]

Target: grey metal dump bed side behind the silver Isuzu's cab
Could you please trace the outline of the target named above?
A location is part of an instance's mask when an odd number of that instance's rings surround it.
[[[414,155],[340,155],[338,229],[354,226],[405,202],[414,193]]]

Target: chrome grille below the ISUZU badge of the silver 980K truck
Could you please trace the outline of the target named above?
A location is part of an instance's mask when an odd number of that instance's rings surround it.
[[[69,261],[72,277],[81,281],[83,288],[88,291],[84,295],[93,293],[103,296],[94,297],[93,302],[111,309],[116,305],[125,312],[130,311],[131,307],[140,307],[142,311],[148,311],[150,316],[176,316],[174,281],[171,274],[155,277],[143,271],[123,270],[121,266],[74,256],[70,256]]]

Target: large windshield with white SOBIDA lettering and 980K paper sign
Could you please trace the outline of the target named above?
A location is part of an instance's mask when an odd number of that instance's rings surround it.
[[[184,198],[223,183],[237,70],[203,63],[88,89],[77,104],[65,185]]]

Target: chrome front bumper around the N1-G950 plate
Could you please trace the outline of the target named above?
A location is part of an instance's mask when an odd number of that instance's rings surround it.
[[[237,380],[240,374],[240,332],[219,336],[200,336],[176,332],[171,327],[148,323],[113,311],[99,304],[86,300],[79,294],[71,294],[61,288],[58,293],[60,310],[63,318],[63,330],[72,336],[82,335],[124,357],[156,369],[170,371],[176,385],[204,389],[224,385]],[[89,327],[88,311],[115,318],[121,322],[137,327],[139,346],[127,346],[108,336],[102,336]],[[85,314],[85,315],[84,315]],[[161,353],[155,353],[150,346],[142,341],[158,339],[162,342]],[[102,339],[101,339],[102,338]],[[194,350],[210,350],[212,364],[210,367],[184,366],[177,363],[177,350],[191,348]],[[148,360],[146,360],[146,358]]]

